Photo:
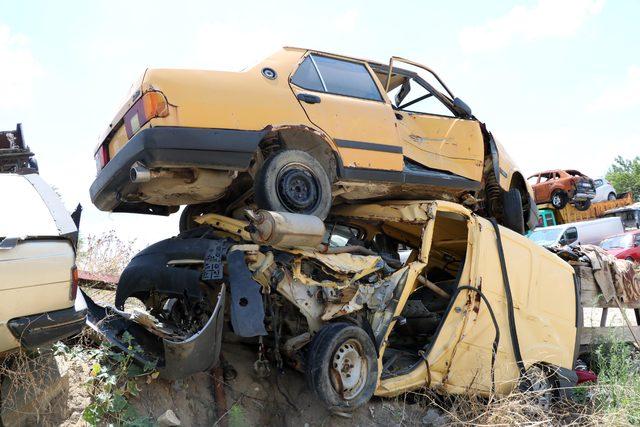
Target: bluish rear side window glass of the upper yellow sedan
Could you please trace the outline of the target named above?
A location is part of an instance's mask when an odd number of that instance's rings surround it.
[[[293,74],[291,82],[303,89],[382,101],[373,77],[364,64],[357,62],[309,55]]]

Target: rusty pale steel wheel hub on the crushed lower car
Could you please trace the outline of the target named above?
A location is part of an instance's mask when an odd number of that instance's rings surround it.
[[[333,354],[331,379],[334,388],[345,399],[352,399],[362,391],[366,382],[367,360],[355,340],[344,342]]]

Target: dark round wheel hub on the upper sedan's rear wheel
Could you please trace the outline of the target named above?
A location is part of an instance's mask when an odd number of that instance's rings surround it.
[[[288,165],[278,176],[278,198],[292,212],[312,211],[320,199],[316,177],[302,165]]]

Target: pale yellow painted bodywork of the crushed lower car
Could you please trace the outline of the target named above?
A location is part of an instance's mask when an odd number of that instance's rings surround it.
[[[518,369],[509,337],[504,284],[493,226],[455,203],[386,202],[341,208],[341,215],[363,220],[411,221],[424,224],[420,261],[410,264],[410,273],[394,315],[402,312],[409,295],[418,288],[417,274],[431,256],[434,221],[428,211],[453,212],[467,218],[467,257],[460,284],[479,287],[488,298],[500,328],[495,364],[497,392],[508,393],[516,385]],[[416,215],[422,210],[423,215]],[[437,215],[437,214],[436,214]],[[525,366],[544,362],[572,368],[577,337],[573,269],[569,264],[524,236],[500,227],[507,272],[514,300],[514,314]],[[471,296],[471,305],[468,304]],[[561,304],[558,301],[562,301]],[[461,291],[447,314],[433,346],[427,354],[431,384],[425,363],[405,375],[381,380],[376,395],[395,396],[430,385],[450,393],[473,390],[487,395],[491,390],[491,345],[495,331],[484,302],[473,311],[475,293]],[[387,331],[387,336],[393,324]],[[379,365],[382,361],[383,343]],[[381,366],[381,365],[380,365]]]

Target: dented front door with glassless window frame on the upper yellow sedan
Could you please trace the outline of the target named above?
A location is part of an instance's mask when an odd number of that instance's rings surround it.
[[[482,180],[484,138],[477,120],[456,117],[417,74],[405,76],[389,97],[406,157],[428,168]]]

